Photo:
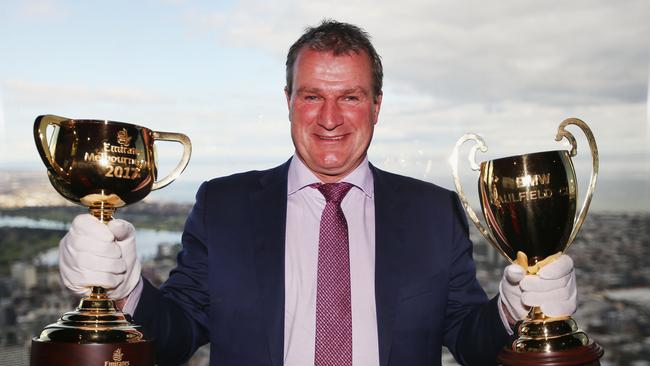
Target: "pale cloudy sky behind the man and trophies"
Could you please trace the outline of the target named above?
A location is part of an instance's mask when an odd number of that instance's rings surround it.
[[[364,28],[382,56],[377,166],[452,188],[463,134],[487,142],[479,160],[566,149],[557,126],[578,117],[598,143],[593,209],[650,211],[648,0],[3,0],[0,172],[44,173],[32,137],[42,114],[187,134],[177,192],[278,165],[293,153],[286,52],[323,18]],[[571,131],[584,188],[589,149]],[[158,152],[165,171],[180,147]],[[476,173],[461,171],[473,191]]]

